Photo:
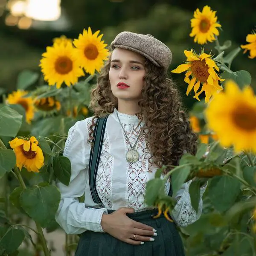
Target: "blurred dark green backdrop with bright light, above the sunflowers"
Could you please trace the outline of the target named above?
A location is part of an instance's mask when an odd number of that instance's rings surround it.
[[[110,44],[117,33],[132,31],[151,34],[165,42],[173,52],[170,70],[185,61],[184,49],[201,46],[189,37],[190,19],[196,8],[209,5],[217,12],[222,25],[219,41],[233,42],[232,49],[246,44],[246,35],[256,29],[256,8],[253,0],[236,3],[233,0],[0,0],[0,92],[15,89],[17,75],[23,69],[38,71],[41,54],[52,45],[52,38],[66,35],[78,38],[89,26],[104,33],[103,40]],[[29,6],[29,8],[28,8]],[[212,44],[215,44],[213,42]],[[204,46],[209,52],[210,44]],[[217,55],[216,52],[212,54]],[[247,58],[242,51],[233,62],[232,70],[247,70],[256,87],[256,60]],[[170,74],[170,73],[169,73]],[[175,75],[182,95],[186,91],[183,74]],[[2,89],[2,90],[1,90]],[[196,100],[184,97],[190,108]]]

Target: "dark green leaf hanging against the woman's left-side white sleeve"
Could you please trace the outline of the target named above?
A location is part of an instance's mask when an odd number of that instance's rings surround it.
[[[61,183],[68,186],[71,177],[71,163],[67,157],[56,156],[53,157],[54,174],[61,181]]]

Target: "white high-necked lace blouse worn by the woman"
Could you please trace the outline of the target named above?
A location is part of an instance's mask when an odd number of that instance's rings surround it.
[[[125,132],[134,145],[140,132],[137,116],[130,116],[118,112]],[[131,207],[135,211],[146,209],[144,195],[146,183],[154,178],[156,166],[148,162],[149,153],[144,153],[146,148],[143,136],[137,142],[136,149],[140,159],[136,163],[128,163],[125,153],[130,148],[129,142],[123,134],[122,127],[117,119],[116,110],[108,116],[99,168],[96,176],[96,190],[104,208],[95,209],[89,181],[88,165],[90,144],[87,143],[89,127],[92,117],[86,118],[70,128],[64,148],[64,156],[71,162],[71,178],[69,186],[57,182],[61,192],[61,201],[56,212],[56,221],[68,234],[79,234],[86,230],[104,232],[101,227],[101,218],[108,209],[116,210],[120,207]],[[163,177],[163,176],[162,176]],[[195,222],[202,212],[202,199],[199,202],[198,213],[192,208],[189,196],[189,184],[184,183],[182,188],[173,195],[178,201],[172,211],[172,218],[178,226],[186,226]],[[166,194],[170,188],[166,182]],[[206,185],[201,187],[201,198]],[[79,202],[78,197],[85,193],[84,202]]]

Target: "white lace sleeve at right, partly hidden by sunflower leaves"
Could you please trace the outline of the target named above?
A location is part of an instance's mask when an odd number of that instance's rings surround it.
[[[185,227],[193,222],[197,221],[203,209],[202,196],[206,190],[207,183],[200,188],[200,200],[198,205],[198,212],[192,207],[191,199],[189,195],[189,185],[192,180],[184,183],[181,189],[174,195],[177,200],[175,208],[172,210],[172,218],[176,222],[177,226]]]

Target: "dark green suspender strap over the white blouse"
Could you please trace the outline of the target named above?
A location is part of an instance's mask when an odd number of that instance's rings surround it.
[[[106,128],[108,116],[100,117],[96,121],[95,131],[93,133],[93,146],[90,151],[90,162],[89,162],[89,185],[90,185],[90,192],[93,198],[94,203],[102,204],[101,199],[99,198],[98,192],[96,190],[95,182],[96,182],[96,175],[99,166],[99,158],[102,151],[102,143]]]

